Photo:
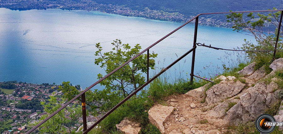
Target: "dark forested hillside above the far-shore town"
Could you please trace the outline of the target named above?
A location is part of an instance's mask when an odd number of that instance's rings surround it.
[[[196,15],[203,12],[266,10],[282,8],[281,0],[95,0],[97,3],[124,5],[134,10],[163,10]]]

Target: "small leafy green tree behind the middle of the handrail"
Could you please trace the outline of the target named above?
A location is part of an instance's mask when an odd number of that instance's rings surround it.
[[[98,51],[95,52],[95,64],[99,65],[106,74],[112,72],[132,57],[136,56],[142,48],[140,44],[136,44],[133,48],[129,44],[122,44],[121,40],[114,40],[111,43],[114,48],[110,52],[102,52],[100,43],[96,44]],[[122,48],[122,49],[121,49]],[[150,58],[157,57],[157,54],[150,53]],[[155,60],[149,60],[149,67],[154,69]],[[131,63],[128,63],[117,72],[107,77],[105,80],[100,82],[101,85],[105,86],[110,91],[118,91],[124,97],[127,97],[134,90],[142,86],[145,83],[145,77],[142,73],[147,72],[147,55],[142,54],[141,56],[134,59]],[[98,74],[97,78],[101,79],[102,74]]]

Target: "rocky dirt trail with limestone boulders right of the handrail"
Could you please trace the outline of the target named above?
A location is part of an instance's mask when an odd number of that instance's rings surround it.
[[[220,76],[218,84],[212,86],[208,83],[186,94],[170,96],[166,104],[150,108],[150,122],[162,134],[235,133],[228,130],[228,126],[252,122],[269,107],[282,101],[280,93],[283,89],[279,89],[277,82],[283,80],[276,78],[275,72],[283,69],[283,58],[271,63],[269,67],[273,71],[269,74],[264,67],[254,71],[254,66],[255,63],[251,63],[238,72],[244,77]],[[282,104],[283,101],[281,109]],[[283,121],[283,110],[275,119]],[[135,122],[117,125],[118,130],[126,134],[137,134],[136,129],[140,130]],[[123,129],[125,126],[127,129]]]

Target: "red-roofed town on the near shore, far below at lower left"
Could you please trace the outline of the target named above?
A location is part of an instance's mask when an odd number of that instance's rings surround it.
[[[33,123],[39,122],[40,117],[47,114],[40,102],[48,102],[53,92],[57,100],[61,101],[63,93],[57,90],[58,86],[55,83],[0,82],[0,134],[21,134],[30,130]],[[82,91],[79,85],[75,87]],[[70,105],[78,104],[80,102],[74,101]],[[68,116],[69,113],[65,115],[66,118],[69,118]],[[95,122],[97,118],[90,114],[87,116],[87,122]],[[80,117],[71,129],[76,131],[82,121]]]

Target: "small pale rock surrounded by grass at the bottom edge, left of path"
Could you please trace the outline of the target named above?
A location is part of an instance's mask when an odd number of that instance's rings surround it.
[[[119,124],[116,124],[116,127],[123,134],[138,134],[142,129],[140,125],[138,122],[132,122],[128,118],[124,118]]]

